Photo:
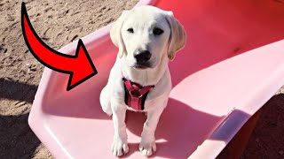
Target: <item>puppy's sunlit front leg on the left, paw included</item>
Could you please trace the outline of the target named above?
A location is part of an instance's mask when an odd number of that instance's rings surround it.
[[[121,156],[127,154],[129,151],[125,125],[126,108],[119,104],[119,102],[112,102],[112,110],[114,121],[112,152],[116,156]]]

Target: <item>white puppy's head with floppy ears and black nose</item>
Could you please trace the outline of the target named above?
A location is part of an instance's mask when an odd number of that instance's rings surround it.
[[[118,56],[130,67],[154,68],[185,46],[185,30],[171,11],[142,6],[123,11],[110,31]]]

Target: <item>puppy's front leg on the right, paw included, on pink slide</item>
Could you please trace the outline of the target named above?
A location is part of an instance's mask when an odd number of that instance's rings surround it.
[[[156,151],[154,132],[158,125],[162,110],[163,108],[159,108],[157,110],[147,112],[147,119],[143,127],[141,142],[139,145],[139,150],[143,155],[150,156]]]

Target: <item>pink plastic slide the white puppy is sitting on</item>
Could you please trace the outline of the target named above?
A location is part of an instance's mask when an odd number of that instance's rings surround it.
[[[141,0],[171,10],[185,49],[170,63],[173,88],[156,130],[155,158],[214,158],[284,85],[284,3],[280,0]],[[28,123],[56,158],[114,158],[111,117],[99,105],[117,49],[112,25],[83,37],[98,74],[67,91],[69,75],[46,68]],[[75,54],[77,42],[59,49]],[[128,112],[130,158],[146,117]]]

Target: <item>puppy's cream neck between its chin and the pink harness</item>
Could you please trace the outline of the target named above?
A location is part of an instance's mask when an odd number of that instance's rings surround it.
[[[154,68],[146,70],[138,70],[130,67],[128,64],[122,63],[122,76],[126,79],[130,79],[133,82],[138,83],[141,86],[156,85],[162,78],[162,75],[169,69],[169,59],[161,59],[160,64]]]

